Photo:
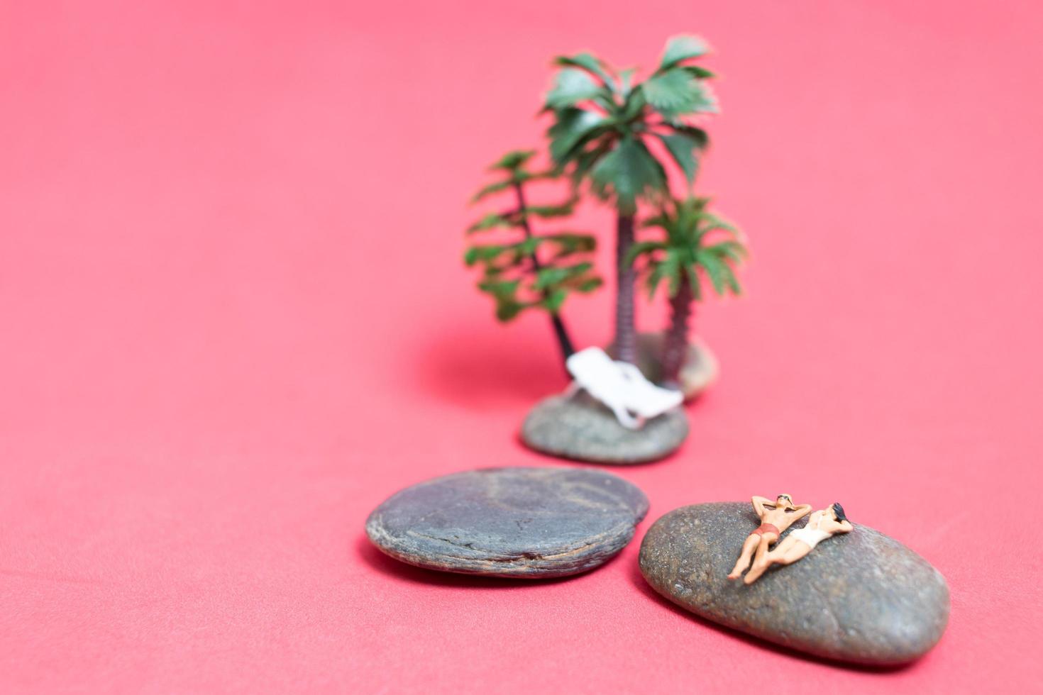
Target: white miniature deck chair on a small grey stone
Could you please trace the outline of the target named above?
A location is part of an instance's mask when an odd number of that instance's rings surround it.
[[[613,362],[601,348],[590,347],[565,361],[576,379],[572,395],[580,389],[604,403],[627,429],[640,429],[645,421],[677,407],[684,400],[680,391],[661,389],[626,362]]]

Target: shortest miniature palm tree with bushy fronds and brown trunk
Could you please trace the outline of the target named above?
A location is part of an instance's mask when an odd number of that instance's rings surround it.
[[[663,238],[634,244],[628,260],[646,277],[649,296],[666,281],[671,317],[663,341],[662,380],[676,384],[688,348],[688,320],[692,303],[701,301],[700,274],[709,280],[718,295],[738,295],[742,289],[734,267],[746,257],[746,246],[738,230],[709,213],[708,198],[673,200],[662,213],[649,219],[646,227],[658,227]]]

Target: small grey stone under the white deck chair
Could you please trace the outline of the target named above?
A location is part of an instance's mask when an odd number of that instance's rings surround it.
[[[536,451],[599,464],[642,464],[674,452],[688,436],[680,407],[627,429],[600,402],[577,393],[545,398],[522,424],[522,441]]]

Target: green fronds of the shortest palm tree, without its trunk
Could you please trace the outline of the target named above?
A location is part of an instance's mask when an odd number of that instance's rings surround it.
[[[742,233],[708,212],[708,198],[673,200],[659,215],[646,221],[646,227],[662,230],[662,238],[634,244],[626,263],[644,262],[640,272],[650,296],[665,280],[668,294],[673,297],[686,279],[695,298],[701,300],[700,277],[718,295],[742,293],[735,275],[736,267],[747,256]]]

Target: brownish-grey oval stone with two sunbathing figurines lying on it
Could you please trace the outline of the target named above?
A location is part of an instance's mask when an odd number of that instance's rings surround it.
[[[753,585],[729,580],[743,540],[758,523],[749,503],[675,510],[646,533],[641,574],[657,592],[704,618],[827,659],[904,664],[942,637],[949,589],[941,573],[901,543],[857,523]]]

